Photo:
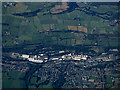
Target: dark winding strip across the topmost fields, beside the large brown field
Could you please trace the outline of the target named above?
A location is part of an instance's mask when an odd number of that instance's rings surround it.
[[[117,5],[117,3],[92,3],[91,5],[95,6],[95,5]],[[100,17],[102,19],[106,19],[106,20],[113,20],[113,19],[118,19],[118,14],[115,14],[115,15],[112,15],[112,12],[108,11],[108,12],[105,12],[105,13],[99,13],[99,12],[96,12],[96,11],[92,11],[90,10],[90,7],[87,8],[87,7],[79,7],[77,5],[76,2],[68,2],[68,6],[69,8],[63,12],[60,12],[60,13],[46,13],[46,14],[43,14],[43,15],[47,15],[47,14],[51,14],[51,15],[57,15],[57,14],[65,14],[65,13],[69,13],[69,12],[72,12],[74,10],[79,10],[79,11],[82,11],[88,15],[92,15],[92,16],[97,16],[97,17]],[[54,6],[51,6],[50,8],[53,8]],[[75,9],[75,8],[79,8],[79,9]],[[82,10],[82,9],[85,9],[85,10]],[[24,13],[15,13],[13,15],[15,16],[24,16],[24,17],[34,17],[34,16],[37,16],[37,13],[41,12],[42,9],[38,9],[36,11],[33,11],[33,12],[24,12]],[[103,17],[101,15],[108,15],[108,16],[111,16],[111,17]]]

